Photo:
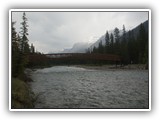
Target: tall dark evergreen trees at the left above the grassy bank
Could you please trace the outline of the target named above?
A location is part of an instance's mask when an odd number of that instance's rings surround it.
[[[29,62],[29,55],[35,53],[34,45],[29,45],[28,43],[28,20],[25,12],[23,13],[22,20],[19,33],[15,28],[16,22],[12,21],[11,24],[12,77],[18,77],[18,75],[24,72]]]

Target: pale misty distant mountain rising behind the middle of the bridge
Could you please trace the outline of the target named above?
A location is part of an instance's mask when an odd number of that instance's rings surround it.
[[[64,49],[62,53],[85,53],[91,43],[75,43],[72,48]]]

